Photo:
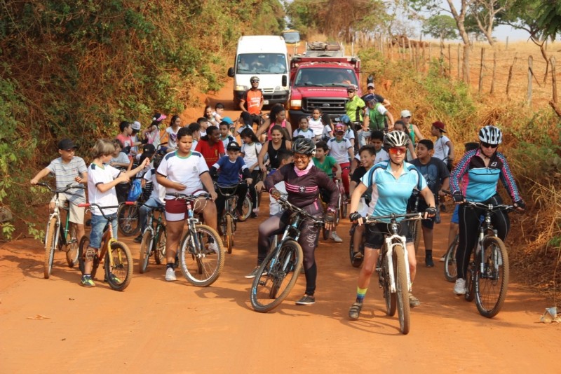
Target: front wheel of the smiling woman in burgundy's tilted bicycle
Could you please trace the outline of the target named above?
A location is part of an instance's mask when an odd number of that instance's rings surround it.
[[[294,240],[287,240],[271,251],[259,266],[250,290],[251,306],[257,312],[269,312],[288,296],[302,270],[304,254]]]

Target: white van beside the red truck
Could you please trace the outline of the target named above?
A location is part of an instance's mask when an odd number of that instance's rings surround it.
[[[250,78],[259,77],[259,89],[265,105],[285,104],[290,90],[288,53],[282,36],[241,36],[234,67],[228,69],[234,78],[234,103],[239,105],[243,92],[251,88]]]

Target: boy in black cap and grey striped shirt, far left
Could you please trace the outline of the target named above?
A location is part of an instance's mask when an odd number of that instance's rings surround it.
[[[52,160],[50,164],[37,173],[29,183],[36,185],[41,178],[48,176],[48,174],[54,174],[57,189],[65,188],[69,184],[74,184],[74,182],[83,186],[82,183],[88,182],[88,168],[83,158],[74,155],[76,148],[78,147],[74,144],[74,141],[70,139],[62,139],[59,141],[58,153],[60,157]],[[86,194],[83,192],[83,189],[73,189],[61,193],[59,199],[62,202],[68,201],[70,208],[69,220],[76,224],[76,239],[80,240],[86,232],[83,228],[84,208],[78,205],[86,202]],[[50,200],[50,209],[54,209],[54,207],[55,200],[53,198],[53,200]]]

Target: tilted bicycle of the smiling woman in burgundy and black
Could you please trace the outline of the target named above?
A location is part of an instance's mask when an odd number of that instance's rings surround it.
[[[317,219],[304,210],[292,205],[281,196],[278,200],[285,209],[290,209],[290,223],[285,227],[275,249],[269,252],[265,260],[259,265],[257,275],[253,279],[250,290],[250,302],[257,312],[269,312],[288,296],[296,284],[302,270],[304,253],[298,244],[300,224],[305,219],[311,219],[313,225],[323,226],[325,222]],[[287,279],[288,278],[288,279]]]

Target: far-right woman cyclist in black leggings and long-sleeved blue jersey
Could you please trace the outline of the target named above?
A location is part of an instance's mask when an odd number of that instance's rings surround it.
[[[501,205],[503,200],[496,192],[499,179],[508,190],[508,195],[514,205],[524,210],[526,205],[522,200],[513,174],[505,156],[497,152],[499,144],[503,141],[503,133],[498,127],[487,125],[479,131],[480,147],[466,152],[450,176],[450,190],[457,204],[464,200],[473,202],[484,202],[485,204]],[[467,178],[463,179],[464,175]],[[464,183],[465,195],[461,192],[460,181]],[[454,284],[454,293],[464,295],[466,293],[466,272],[468,270],[469,257],[478,239],[478,227],[481,209],[467,209],[464,205],[459,208],[459,243],[456,251],[456,263],[458,277]],[[510,229],[510,221],[506,212],[495,212],[491,221],[496,229],[496,235],[501,240],[506,239]]]

